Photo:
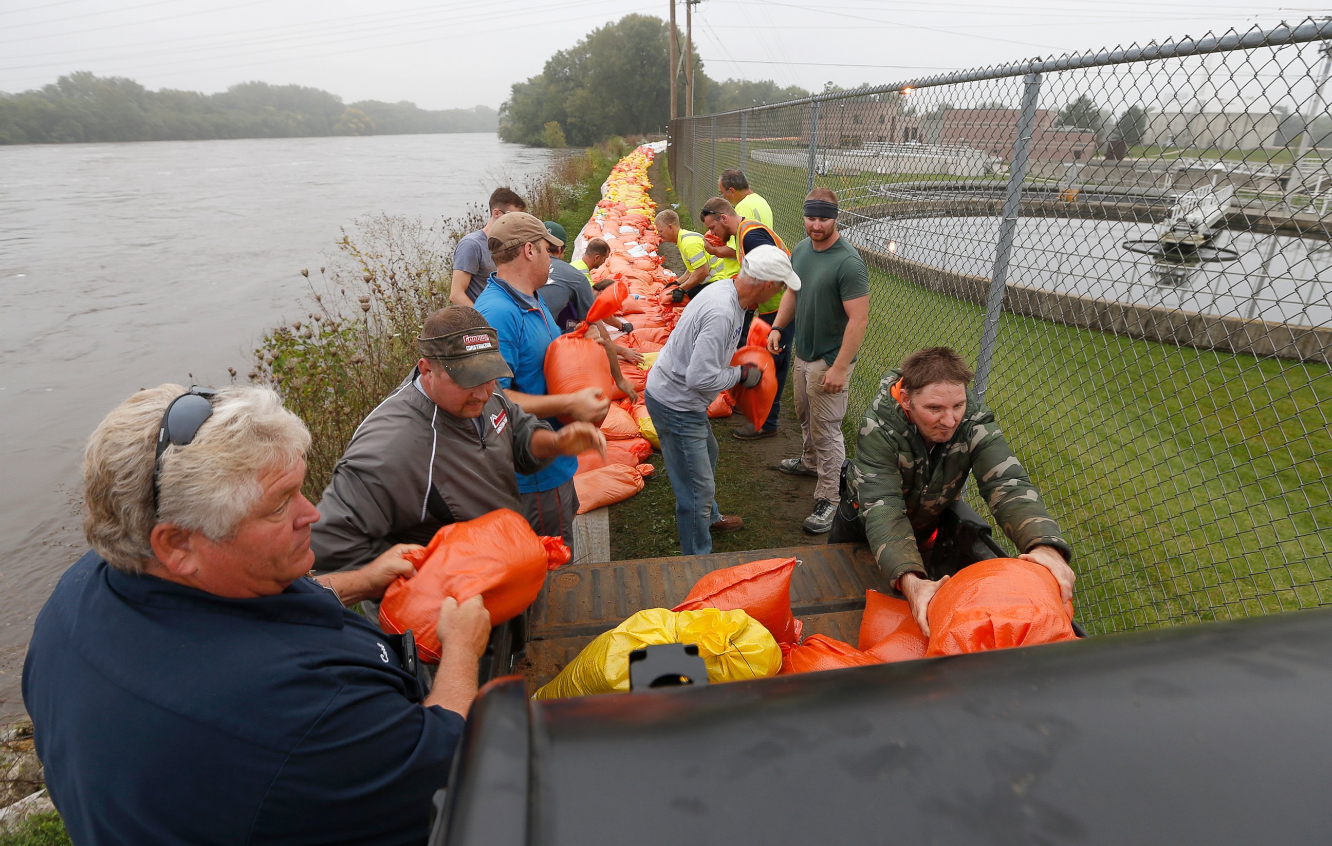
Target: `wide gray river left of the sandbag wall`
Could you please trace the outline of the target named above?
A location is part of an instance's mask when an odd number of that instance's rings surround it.
[[[80,529],[83,446],[143,386],[242,374],[364,214],[457,216],[550,153],[494,135],[0,147],[0,719]]]

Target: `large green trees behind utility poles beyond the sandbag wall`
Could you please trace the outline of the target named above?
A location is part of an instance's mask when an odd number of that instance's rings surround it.
[[[681,37],[683,51],[685,39]],[[693,51],[694,113],[723,112],[807,97],[797,85],[727,79],[703,72]],[[685,75],[678,113],[685,113]],[[670,119],[670,24],[650,15],[626,15],[593,29],[546,60],[542,72],[514,83],[500,107],[500,137],[534,147],[587,147],[611,136],[653,135]]]

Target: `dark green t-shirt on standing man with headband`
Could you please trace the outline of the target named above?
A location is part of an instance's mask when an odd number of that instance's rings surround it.
[[[805,238],[791,250],[791,268],[801,277],[795,292],[795,354],[832,364],[847,324],[842,302],[870,294],[870,270],[846,238],[823,252]]]

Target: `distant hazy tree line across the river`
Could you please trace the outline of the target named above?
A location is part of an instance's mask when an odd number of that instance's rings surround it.
[[[216,95],[148,91],[131,79],[87,71],[19,95],[0,92],[0,144],[192,141],[330,135],[494,132],[497,112],[429,111],[302,85],[242,83]]]

